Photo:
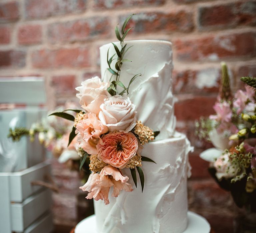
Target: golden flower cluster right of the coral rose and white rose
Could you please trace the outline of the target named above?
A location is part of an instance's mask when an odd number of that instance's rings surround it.
[[[151,128],[141,123],[141,121],[137,121],[133,129],[134,134],[140,141],[141,145],[148,143],[149,140],[154,140],[154,132]]]

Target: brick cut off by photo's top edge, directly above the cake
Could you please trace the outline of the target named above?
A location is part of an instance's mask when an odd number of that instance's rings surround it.
[[[125,7],[160,6],[166,0],[94,0],[94,9],[116,9]]]

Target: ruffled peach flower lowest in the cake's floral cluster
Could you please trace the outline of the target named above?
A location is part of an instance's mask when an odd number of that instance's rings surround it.
[[[128,176],[123,176],[117,168],[107,165],[101,170],[100,174],[91,173],[88,181],[80,189],[89,192],[87,199],[94,198],[96,201],[101,199],[107,205],[109,204],[110,187],[113,186],[112,197],[117,197],[121,190],[126,192],[133,190],[132,185],[127,183],[128,180]]]

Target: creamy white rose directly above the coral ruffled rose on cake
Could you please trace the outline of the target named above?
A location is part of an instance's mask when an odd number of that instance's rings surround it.
[[[112,96],[100,109],[99,118],[110,132],[129,132],[136,125],[135,105],[128,96]]]

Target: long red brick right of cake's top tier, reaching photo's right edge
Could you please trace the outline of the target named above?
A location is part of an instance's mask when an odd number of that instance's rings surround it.
[[[220,61],[223,58],[254,57],[256,33],[245,32],[174,42],[180,61]]]

